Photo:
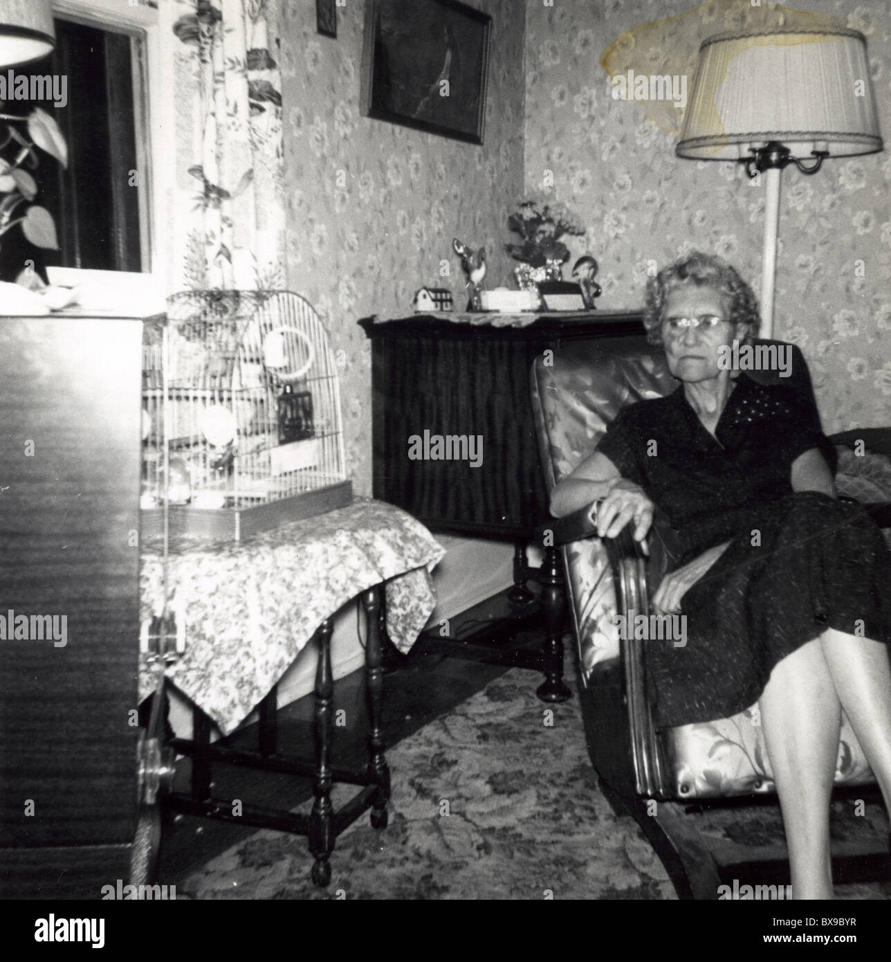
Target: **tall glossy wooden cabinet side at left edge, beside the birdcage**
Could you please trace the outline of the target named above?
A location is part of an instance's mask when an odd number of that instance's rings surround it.
[[[120,317],[0,317],[6,898],[98,899],[128,877],[141,332]]]

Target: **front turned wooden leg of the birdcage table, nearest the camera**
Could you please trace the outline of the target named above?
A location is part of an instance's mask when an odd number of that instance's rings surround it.
[[[331,633],[333,624],[324,620],[315,633],[318,645],[318,665],[315,670],[315,774],[312,792],[315,801],[309,814],[309,851],[315,857],[312,865],[312,881],[327,885],[331,881],[332,839],[331,803],[331,738],[334,682],[331,674]]]

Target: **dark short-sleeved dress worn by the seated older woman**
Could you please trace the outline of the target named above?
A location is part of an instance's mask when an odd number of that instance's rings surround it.
[[[717,439],[717,440],[716,440]],[[784,386],[742,374],[713,437],[681,388],[639,401],[598,450],[656,503],[675,570],[730,546],[683,596],[686,645],[651,640],[656,723],[729,718],[827,627],[891,644],[891,553],[858,505],[793,493],[792,463],[825,439]]]

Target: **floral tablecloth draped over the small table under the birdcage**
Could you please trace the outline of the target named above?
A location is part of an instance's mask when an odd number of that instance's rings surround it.
[[[170,544],[168,613],[185,651],[166,677],[224,735],[256,707],[321,622],[384,583],[386,627],[407,652],[435,604],[430,572],[445,551],[427,528],[382,501],[356,499],[237,542]],[[143,544],[139,571],[140,700],[157,684],[148,627],[164,610],[162,544]]]

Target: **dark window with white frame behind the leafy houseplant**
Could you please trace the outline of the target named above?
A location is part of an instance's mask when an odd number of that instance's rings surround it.
[[[37,181],[35,200],[53,216],[60,249],[23,238],[0,241],[0,270],[12,279],[24,253],[41,274],[47,266],[152,271],[147,63],[151,54],[157,66],[157,12],[124,8],[119,0],[56,0],[54,9],[53,54],[15,68],[12,76],[2,73],[3,112],[27,115],[40,107],[67,144],[67,168],[42,151],[37,168],[29,168]],[[9,92],[23,76],[36,99]],[[25,133],[22,124],[11,126]],[[17,149],[7,141],[3,157],[14,158]]]

